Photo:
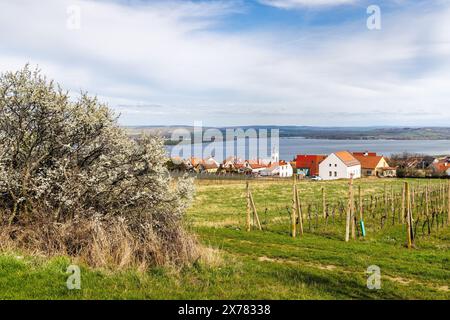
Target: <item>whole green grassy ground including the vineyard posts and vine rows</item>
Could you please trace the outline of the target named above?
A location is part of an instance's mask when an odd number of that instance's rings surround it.
[[[197,180],[185,223],[203,248],[192,267],[82,265],[82,290],[69,291],[70,259],[3,253],[1,297],[450,299],[448,180]],[[367,287],[372,265],[380,290]]]

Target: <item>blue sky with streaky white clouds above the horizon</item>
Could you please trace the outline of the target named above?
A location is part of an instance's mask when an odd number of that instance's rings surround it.
[[[449,126],[450,0],[0,0],[26,63],[123,125]]]

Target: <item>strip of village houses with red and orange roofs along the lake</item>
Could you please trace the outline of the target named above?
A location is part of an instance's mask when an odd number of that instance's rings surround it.
[[[280,160],[272,152],[269,159],[242,160],[232,156],[219,162],[214,157],[200,159],[172,158],[171,171],[198,175],[243,177],[274,177],[311,180],[358,179],[362,177],[450,177],[450,156],[393,155],[390,158],[375,152],[337,151],[329,155],[298,154],[292,161]]]

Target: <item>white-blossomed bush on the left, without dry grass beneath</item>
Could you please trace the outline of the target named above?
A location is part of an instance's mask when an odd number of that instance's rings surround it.
[[[184,235],[181,218],[193,190],[188,179],[171,180],[166,161],[161,139],[130,139],[96,98],[81,93],[73,101],[28,66],[1,75],[0,215],[5,225],[120,220],[136,241],[150,232],[158,246],[173,246]]]

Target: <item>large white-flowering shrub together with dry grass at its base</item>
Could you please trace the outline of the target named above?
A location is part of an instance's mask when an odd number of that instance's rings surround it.
[[[192,181],[172,181],[163,141],[130,139],[96,98],[29,66],[0,76],[2,239],[94,265],[183,264]]]

